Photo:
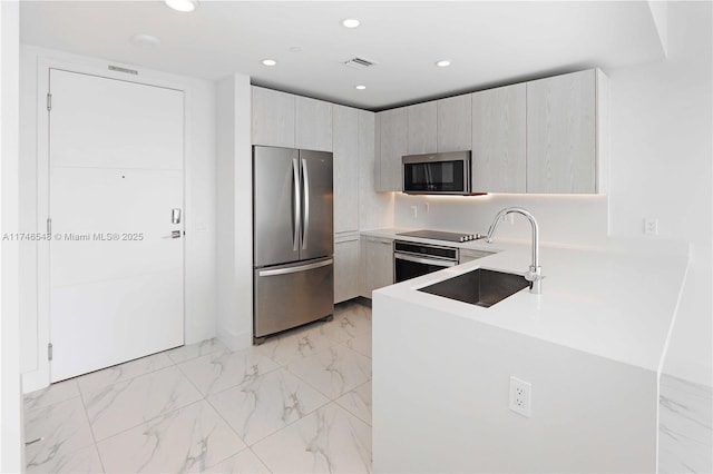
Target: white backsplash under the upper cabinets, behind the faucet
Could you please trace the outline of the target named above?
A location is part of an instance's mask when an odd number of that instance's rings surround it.
[[[495,215],[505,207],[529,210],[539,226],[540,239],[548,243],[597,244],[608,235],[606,196],[487,195],[409,196],[394,194],[394,226],[462,233],[488,231]],[[416,209],[416,216],[414,216]],[[528,239],[525,217],[510,216],[500,223],[498,237]]]

